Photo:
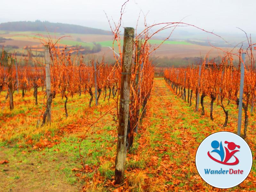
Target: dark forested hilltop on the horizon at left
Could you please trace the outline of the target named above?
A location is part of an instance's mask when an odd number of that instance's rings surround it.
[[[47,31],[56,33],[78,33],[95,35],[112,35],[110,31],[96,28],[83,27],[80,25],[51,23],[49,21],[16,21],[0,24],[0,30],[6,31]]]

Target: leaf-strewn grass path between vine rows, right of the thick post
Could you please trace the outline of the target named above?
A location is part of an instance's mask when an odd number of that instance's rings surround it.
[[[138,187],[149,191],[203,189],[194,161],[196,148],[209,130],[199,130],[199,116],[182,105],[163,80],[155,79],[154,89],[138,140],[138,158],[145,161],[148,178]],[[216,131],[210,123],[207,125]]]

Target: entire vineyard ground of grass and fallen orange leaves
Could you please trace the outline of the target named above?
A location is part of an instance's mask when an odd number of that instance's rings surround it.
[[[154,91],[147,113],[127,153],[125,183],[115,184],[114,162],[117,142],[116,116],[108,113],[89,129],[115,102],[87,108],[88,96],[68,100],[69,117],[65,119],[64,100],[56,98],[53,115],[56,123],[36,129],[44,107],[34,106],[33,97],[21,100],[16,95],[12,112],[1,93],[0,102],[0,191],[254,191],[256,167],[253,162],[248,178],[235,188],[218,189],[205,183],[195,166],[196,149],[209,134],[218,131],[236,133],[236,105],[228,106],[230,119],[223,128],[225,116],[214,105],[210,120],[209,99],[205,99],[205,115],[189,107],[177,97],[163,78],[154,80]],[[3,95],[2,95],[3,94]],[[31,93],[33,95],[33,93]],[[194,95],[193,95],[194,96]],[[14,97],[15,98],[15,97]],[[43,96],[39,94],[39,103]],[[195,98],[192,98],[195,100]],[[25,103],[26,102],[26,103]],[[226,104],[226,103],[225,103]],[[4,107],[3,107],[4,106]],[[34,106],[34,107],[33,107]],[[19,110],[19,111],[18,111]],[[115,112],[115,108],[112,112]],[[17,118],[16,118],[17,117]],[[22,123],[22,121],[24,122]],[[247,138],[255,160],[255,123],[249,116]],[[243,129],[242,129],[243,131]]]

